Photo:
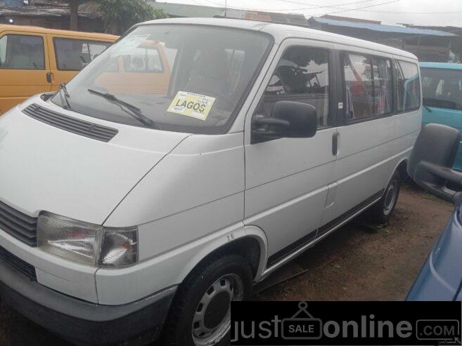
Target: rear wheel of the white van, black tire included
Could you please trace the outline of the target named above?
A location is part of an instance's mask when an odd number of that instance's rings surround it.
[[[402,178],[399,171],[394,171],[392,179],[385,188],[382,198],[372,206],[371,217],[373,222],[386,223],[394,211],[399,197],[399,189],[401,188]]]

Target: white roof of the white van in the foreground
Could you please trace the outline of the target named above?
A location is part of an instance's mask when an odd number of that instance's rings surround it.
[[[148,22],[140,23],[146,24],[191,24],[191,25],[214,25],[218,27],[234,27],[236,29],[249,29],[259,32],[267,32],[274,36],[276,43],[281,43],[283,39],[290,37],[315,39],[319,41],[329,41],[339,44],[347,44],[349,46],[357,46],[361,48],[371,49],[373,51],[380,51],[383,53],[399,55],[406,58],[417,60],[416,55],[402,51],[401,49],[385,46],[383,44],[376,44],[375,42],[366,41],[362,39],[355,39],[354,37],[333,34],[331,32],[323,32],[321,30],[310,29],[308,27],[299,27],[295,25],[276,24],[271,22],[257,22],[254,20],[241,20],[231,18],[167,18],[150,20]]]

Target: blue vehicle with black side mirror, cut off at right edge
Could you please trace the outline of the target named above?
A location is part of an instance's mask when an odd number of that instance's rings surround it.
[[[427,125],[409,158],[411,178],[456,208],[406,300],[462,300],[462,173],[452,169],[460,138],[454,128]]]

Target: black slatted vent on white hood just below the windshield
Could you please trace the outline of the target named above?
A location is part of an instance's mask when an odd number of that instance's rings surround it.
[[[53,112],[35,103],[23,109],[23,112],[31,118],[60,128],[61,130],[72,132],[76,135],[83,135],[94,140],[101,140],[102,142],[109,142],[119,132],[115,128],[96,125],[89,121]]]

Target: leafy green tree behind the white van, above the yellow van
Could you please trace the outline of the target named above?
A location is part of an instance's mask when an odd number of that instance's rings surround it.
[[[162,10],[155,10],[144,0],[94,0],[99,4],[106,32],[122,34],[131,25],[146,20],[166,18]]]

